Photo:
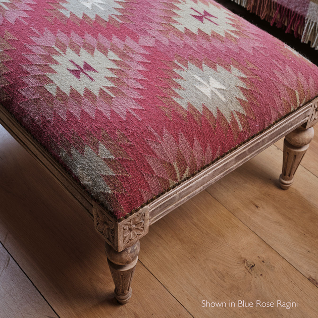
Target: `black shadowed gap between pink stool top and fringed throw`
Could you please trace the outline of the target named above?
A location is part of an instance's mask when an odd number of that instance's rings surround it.
[[[309,61],[318,66],[318,50],[310,47],[310,42],[308,44],[302,43],[299,38],[295,38],[294,33],[285,33],[284,29],[277,28],[275,25],[271,26],[270,22],[261,20],[260,17],[258,17],[256,14],[248,12],[245,8],[237,5],[231,0],[215,1],[228,8],[233,13],[249,21],[250,23],[258,26],[260,29],[263,29],[264,31],[274,35],[281,41],[285,42],[287,45],[291,46]]]

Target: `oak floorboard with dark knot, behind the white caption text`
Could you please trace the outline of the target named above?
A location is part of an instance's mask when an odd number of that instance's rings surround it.
[[[194,317],[318,316],[318,289],[206,191],[141,240],[140,261]],[[227,307],[202,307],[202,300]],[[275,306],[242,308],[239,300]],[[298,307],[277,307],[277,300]]]

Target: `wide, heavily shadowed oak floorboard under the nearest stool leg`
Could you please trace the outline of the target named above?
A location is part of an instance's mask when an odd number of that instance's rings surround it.
[[[1,126],[0,175],[0,240],[61,318],[191,317],[140,262],[117,303],[92,220]]]

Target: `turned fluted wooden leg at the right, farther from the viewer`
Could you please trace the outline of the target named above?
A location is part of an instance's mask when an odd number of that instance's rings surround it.
[[[286,190],[292,185],[294,174],[309,147],[313,134],[312,127],[305,129],[300,126],[285,137],[283,171],[279,177],[282,189]]]

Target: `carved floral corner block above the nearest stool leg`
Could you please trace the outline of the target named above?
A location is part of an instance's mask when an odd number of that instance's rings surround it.
[[[95,230],[115,250],[123,249],[135,244],[141,237],[148,233],[149,207],[142,208],[137,213],[122,222],[116,222],[98,204],[93,203]]]

